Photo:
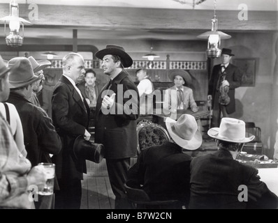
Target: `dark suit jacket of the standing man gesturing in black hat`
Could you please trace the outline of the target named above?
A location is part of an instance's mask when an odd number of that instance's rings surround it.
[[[129,74],[123,70],[112,80],[110,93],[116,93],[115,103],[110,108],[113,114],[103,114],[101,102],[106,84],[98,95],[96,102],[95,142],[103,144],[105,158],[122,159],[133,157],[137,151],[136,119],[139,115],[139,93]],[[120,89],[122,87],[122,90]],[[119,88],[119,89],[118,89]],[[129,97],[132,93],[132,97]],[[118,98],[119,97],[119,98]],[[129,104],[131,102],[131,104]],[[126,111],[131,112],[128,114]]]

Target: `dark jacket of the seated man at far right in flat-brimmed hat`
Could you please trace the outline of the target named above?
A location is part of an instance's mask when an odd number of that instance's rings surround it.
[[[226,149],[194,157],[189,208],[277,208],[278,197],[257,174],[254,167],[233,160]],[[248,201],[238,201],[240,185],[247,186]]]

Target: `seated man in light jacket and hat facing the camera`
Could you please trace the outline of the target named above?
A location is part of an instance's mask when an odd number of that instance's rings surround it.
[[[173,113],[177,112],[177,109],[191,109],[192,112],[198,112],[192,89],[184,86],[191,82],[189,73],[185,70],[171,70],[168,77],[175,85],[166,89],[163,109],[168,109]]]

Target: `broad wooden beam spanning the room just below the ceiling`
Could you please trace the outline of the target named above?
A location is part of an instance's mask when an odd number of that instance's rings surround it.
[[[20,16],[29,20],[28,4],[20,4]],[[0,4],[0,17],[9,14],[8,4]],[[248,20],[239,20],[239,10],[219,10],[219,30],[277,31],[277,11],[248,11]],[[212,10],[161,8],[120,8],[101,6],[38,5],[36,27],[71,29],[146,29],[146,30],[210,30]]]

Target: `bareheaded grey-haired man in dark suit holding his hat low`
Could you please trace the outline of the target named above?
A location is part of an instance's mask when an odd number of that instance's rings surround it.
[[[70,53],[62,61],[63,75],[52,95],[52,119],[63,143],[59,155],[53,156],[60,191],[55,208],[80,208],[81,180],[86,173],[85,160],[73,155],[73,144],[79,135],[89,140],[89,105],[75,86],[75,81],[85,73],[85,61],[80,54]]]

